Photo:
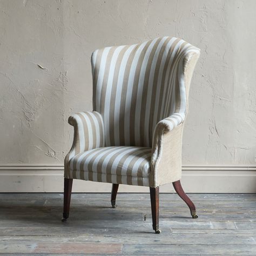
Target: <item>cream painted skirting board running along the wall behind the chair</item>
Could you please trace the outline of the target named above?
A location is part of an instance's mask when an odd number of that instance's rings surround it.
[[[63,165],[0,165],[0,192],[63,192]],[[184,166],[187,193],[256,193],[256,166]],[[109,183],[74,180],[72,192],[111,191]],[[149,192],[148,187],[120,185],[118,192]],[[160,187],[173,193],[172,184]]]

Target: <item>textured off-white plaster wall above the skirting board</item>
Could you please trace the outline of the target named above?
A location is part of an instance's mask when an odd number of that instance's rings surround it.
[[[255,165],[256,1],[0,0],[0,165],[62,164],[92,109],[91,52],[176,36],[201,57],[183,165]]]

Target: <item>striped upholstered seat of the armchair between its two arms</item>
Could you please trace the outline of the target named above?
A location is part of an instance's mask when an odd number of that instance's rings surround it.
[[[76,179],[145,186],[150,173],[150,159],[151,147],[99,147],[72,157],[69,176]]]

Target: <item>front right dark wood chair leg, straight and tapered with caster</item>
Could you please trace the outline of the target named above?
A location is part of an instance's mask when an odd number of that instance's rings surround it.
[[[159,234],[159,187],[150,187],[150,200],[153,230]]]

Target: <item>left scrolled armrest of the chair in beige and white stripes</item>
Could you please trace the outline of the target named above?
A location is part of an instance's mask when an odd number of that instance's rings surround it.
[[[74,126],[74,138],[71,150],[66,155],[69,159],[87,150],[104,147],[105,134],[102,115],[96,111],[79,112],[69,117],[69,124]]]

